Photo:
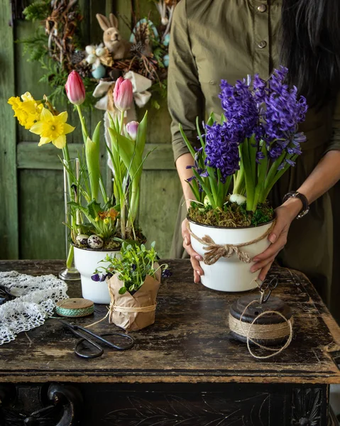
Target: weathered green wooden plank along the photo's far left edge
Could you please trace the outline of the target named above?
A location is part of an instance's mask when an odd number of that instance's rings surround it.
[[[0,258],[18,258],[18,199],[16,180],[16,122],[7,99],[14,95],[13,28],[11,6],[0,3]]]

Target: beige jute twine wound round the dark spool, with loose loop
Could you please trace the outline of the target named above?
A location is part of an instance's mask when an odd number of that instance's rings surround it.
[[[290,345],[290,342],[292,342],[292,324],[294,320],[292,317],[288,320],[281,312],[268,310],[257,315],[251,323],[242,321],[248,307],[253,305],[253,303],[258,303],[258,300],[253,300],[246,306],[239,320],[229,313],[229,328],[231,332],[246,338],[248,351],[251,356],[256,359],[268,359],[280,354]],[[284,322],[279,322],[277,324],[256,324],[256,322],[264,315],[278,315],[284,320]],[[257,340],[265,342],[266,340],[284,339],[285,337],[287,337],[287,342],[285,342],[285,344],[283,344],[280,348],[271,348],[269,346],[265,346],[265,344],[257,342]],[[256,355],[254,354],[253,349],[251,349],[251,343],[261,349],[265,349],[266,351],[271,351],[273,353],[269,355]]]

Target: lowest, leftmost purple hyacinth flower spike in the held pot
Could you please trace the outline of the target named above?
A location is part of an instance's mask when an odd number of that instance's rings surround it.
[[[239,170],[238,128],[229,122],[206,126],[206,165],[221,171],[221,181]]]

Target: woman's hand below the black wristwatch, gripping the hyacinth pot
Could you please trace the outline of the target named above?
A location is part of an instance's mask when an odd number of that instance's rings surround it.
[[[261,281],[265,279],[265,275],[267,275],[275,257],[278,256],[278,253],[280,253],[287,243],[290,224],[297,217],[301,209],[302,202],[297,198],[290,198],[285,204],[275,209],[276,223],[273,231],[268,236],[271,244],[267,250],[253,258],[253,261],[256,263],[251,267],[251,272],[261,269],[261,273],[258,275]]]

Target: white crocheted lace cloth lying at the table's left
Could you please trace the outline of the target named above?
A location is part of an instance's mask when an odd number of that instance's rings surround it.
[[[55,303],[68,297],[67,284],[55,275],[33,277],[16,271],[0,272],[0,285],[6,285],[16,296],[0,306],[0,345],[43,324],[53,315]]]

